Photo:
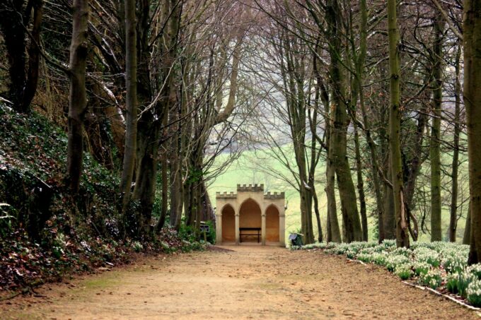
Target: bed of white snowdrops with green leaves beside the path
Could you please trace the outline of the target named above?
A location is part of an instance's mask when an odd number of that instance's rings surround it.
[[[411,249],[396,248],[394,240],[381,244],[309,244],[300,249],[324,249],[326,254],[343,254],[349,259],[385,266],[402,280],[417,281],[432,289],[444,287],[448,292],[468,297],[481,306],[481,263],[467,266],[469,246],[451,242],[415,242]],[[469,288],[469,290],[468,290]]]

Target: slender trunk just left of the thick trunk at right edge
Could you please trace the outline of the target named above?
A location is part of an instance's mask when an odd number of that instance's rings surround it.
[[[449,219],[449,241],[456,242],[456,228],[458,227],[458,167],[459,167],[459,135],[460,135],[460,112],[461,112],[461,81],[460,81],[460,58],[461,47],[458,46],[456,52],[456,82],[454,83],[454,91],[456,102],[454,104],[454,150],[451,177],[453,184],[451,186],[451,210]]]

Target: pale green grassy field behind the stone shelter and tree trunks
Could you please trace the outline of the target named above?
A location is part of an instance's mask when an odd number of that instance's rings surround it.
[[[216,165],[224,165],[224,160],[226,156],[221,155],[216,160]],[[443,162],[448,164],[451,161],[451,155],[444,154]],[[291,161],[294,163],[294,159]],[[467,178],[466,178],[466,164],[460,167],[460,198],[466,197],[466,192],[468,190],[467,187]],[[447,168],[448,172],[451,171],[451,168]],[[423,168],[423,173],[419,176],[419,184],[422,186],[421,189],[426,189],[427,194],[424,194],[423,201],[427,202],[429,207],[429,162],[426,162]],[[327,199],[325,197],[325,168],[323,163],[319,163],[317,168],[316,174],[316,191],[318,193],[319,198],[319,210],[321,215],[321,225],[323,227],[323,232],[325,232],[325,222],[326,222],[326,203]],[[354,174],[354,172],[353,172]],[[282,176],[285,177],[282,179]],[[366,177],[364,177],[365,179]],[[216,191],[224,192],[224,191],[236,191],[237,184],[264,184],[265,192],[267,191],[284,191],[286,193],[286,236],[289,235],[290,232],[297,232],[301,229],[301,213],[299,209],[299,194],[294,189],[291,184],[286,182],[286,179],[291,181],[294,180],[289,170],[286,169],[282,163],[270,157],[266,153],[260,153],[259,151],[245,151],[240,158],[233,162],[225,171],[224,174],[221,174],[215,181],[212,181],[209,185],[209,195],[211,196],[211,200],[215,206],[215,193]],[[354,178],[355,179],[355,178]],[[354,184],[356,182],[354,181]],[[447,204],[450,201],[450,196],[447,193],[447,190],[451,188],[451,178],[448,175],[444,174],[442,179],[442,183],[444,185],[444,207],[442,212],[442,225],[443,225],[443,237],[444,239],[448,239],[448,225],[449,225],[449,208]],[[368,202],[368,215],[373,211],[375,206],[375,201],[373,197],[368,194],[368,198],[366,199]],[[339,201],[339,196],[337,196],[337,201]],[[460,201],[459,201],[460,202]],[[340,223],[342,223],[342,218],[340,216],[340,203],[337,204],[338,208],[338,218]],[[457,237],[458,242],[462,241],[464,226],[465,226],[465,212],[466,212],[467,205],[466,203],[463,205],[463,210],[460,211],[463,213],[463,216],[458,220],[458,230],[457,230]],[[424,225],[429,229],[430,226],[430,214],[424,213],[424,210],[418,211],[415,213],[419,215],[419,217],[425,216]],[[419,227],[421,228],[422,219],[419,219]],[[377,239],[377,232],[376,232],[376,223],[377,220],[369,216],[368,218],[369,223],[369,239]],[[314,232],[317,234],[316,230],[317,227],[315,225],[315,216],[313,215],[313,224],[314,224]],[[424,227],[424,230],[426,230]],[[422,230],[419,230],[420,241],[429,241],[430,235],[429,233],[424,233]]]

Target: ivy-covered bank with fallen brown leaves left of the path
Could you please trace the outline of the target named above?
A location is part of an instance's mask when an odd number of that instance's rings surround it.
[[[85,153],[80,196],[71,198],[66,143],[64,130],[40,114],[0,104],[0,295],[128,263],[133,252],[204,248],[170,228],[149,239],[120,237],[117,172]]]

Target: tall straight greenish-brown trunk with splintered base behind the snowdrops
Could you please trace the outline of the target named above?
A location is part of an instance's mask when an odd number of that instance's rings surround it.
[[[393,184],[394,213],[396,220],[396,243],[398,247],[409,247],[407,217],[402,194],[402,160],[400,146],[400,57],[398,51],[398,19],[396,0],[388,0],[388,38],[390,70],[390,112],[389,112],[389,146],[390,164]]]

